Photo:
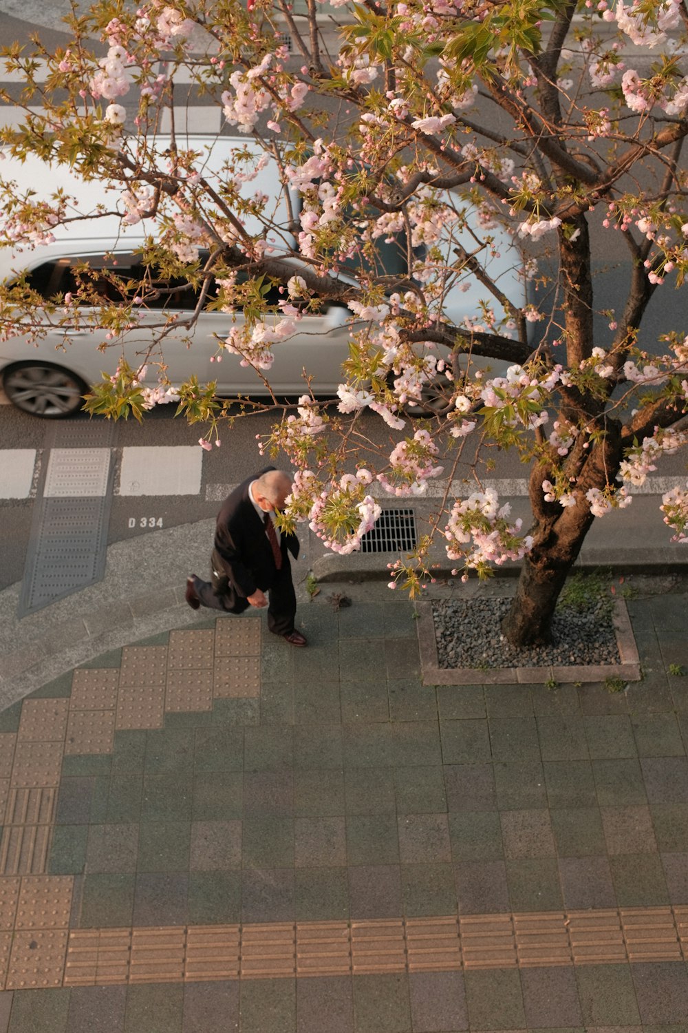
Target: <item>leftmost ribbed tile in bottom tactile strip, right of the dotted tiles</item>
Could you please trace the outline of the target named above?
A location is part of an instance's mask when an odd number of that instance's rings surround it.
[[[131,929],[75,929],[69,933],[65,987],[122,985],[129,981]]]

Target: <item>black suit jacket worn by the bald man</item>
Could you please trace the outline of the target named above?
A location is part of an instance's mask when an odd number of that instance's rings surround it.
[[[256,512],[249,495],[249,484],[268,470],[268,466],[238,484],[225,499],[218,513],[215,534],[214,567],[220,561],[222,572],[241,596],[253,595],[257,588],[265,591],[272,585],[276,567],[265,526]],[[294,559],[299,541],[295,534],[282,534],[280,547],[287,564],[287,550]]]

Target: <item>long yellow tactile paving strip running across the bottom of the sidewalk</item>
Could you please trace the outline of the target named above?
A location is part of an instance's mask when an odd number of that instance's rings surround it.
[[[0,989],[688,961],[688,905],[70,930],[72,890],[0,878]]]

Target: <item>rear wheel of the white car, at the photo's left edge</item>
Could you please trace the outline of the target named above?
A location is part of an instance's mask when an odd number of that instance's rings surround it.
[[[2,373],[7,399],[22,412],[42,419],[73,416],[89,389],[80,377],[52,363],[14,363]]]

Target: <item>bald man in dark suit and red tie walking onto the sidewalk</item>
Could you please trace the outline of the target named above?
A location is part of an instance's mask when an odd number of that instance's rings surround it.
[[[281,533],[273,518],[291,490],[289,474],[274,467],[234,489],[218,514],[212,578],[188,577],[186,599],[192,609],[202,605],[230,614],[267,606],[270,631],[291,646],[305,646],[305,635],[294,628],[296,593],[287,552],[296,559],[299,541]]]

